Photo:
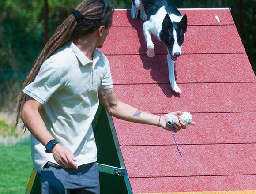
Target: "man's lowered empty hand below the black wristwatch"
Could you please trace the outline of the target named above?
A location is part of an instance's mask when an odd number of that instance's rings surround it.
[[[53,148],[52,153],[54,159],[62,168],[78,168],[77,164],[75,163],[76,158],[73,153],[70,150],[62,147],[59,143]]]

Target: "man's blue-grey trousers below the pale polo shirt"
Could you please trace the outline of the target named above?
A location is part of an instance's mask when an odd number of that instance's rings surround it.
[[[47,162],[38,171],[41,194],[99,194],[99,172],[97,163],[84,164],[75,168],[62,168]]]

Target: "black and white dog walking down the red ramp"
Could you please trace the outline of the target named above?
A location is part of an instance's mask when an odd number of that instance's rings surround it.
[[[174,63],[181,56],[181,47],[187,31],[187,15],[181,15],[172,0],[132,0],[132,18],[137,19],[138,10],[147,41],[147,56],[154,56],[151,34],[162,41],[168,50],[167,62],[171,88],[181,93],[174,74]]]

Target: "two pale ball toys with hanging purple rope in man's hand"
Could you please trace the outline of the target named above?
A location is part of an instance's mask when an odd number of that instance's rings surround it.
[[[169,115],[167,118],[167,125],[170,127],[173,127],[174,122],[176,122],[176,121],[181,121],[184,124],[190,124],[192,121],[192,115],[189,112],[182,112],[180,119],[178,119],[178,117],[176,115]],[[181,153],[181,150],[180,150],[178,142],[177,142],[174,127],[173,127],[173,139],[174,139],[174,143],[177,147],[177,150],[178,150],[180,156],[182,157],[182,153]]]

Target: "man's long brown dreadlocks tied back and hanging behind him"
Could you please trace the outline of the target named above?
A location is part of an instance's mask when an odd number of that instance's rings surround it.
[[[15,127],[18,125],[20,113],[27,96],[22,92],[22,90],[34,81],[42,63],[44,63],[45,60],[47,60],[56,49],[66,44],[68,41],[74,40],[81,35],[93,32],[94,30],[97,30],[99,26],[104,25],[107,28],[112,24],[114,11],[113,6],[109,5],[105,15],[102,17],[104,7],[105,4],[102,0],[84,0],[75,8],[81,12],[83,19],[76,21],[75,16],[72,14],[69,15],[68,18],[56,28],[55,33],[46,43],[40,56],[36,60],[34,66],[23,83],[21,92],[19,93]],[[22,129],[24,132],[26,131],[25,124],[23,124]]]

